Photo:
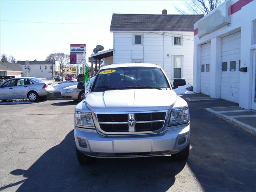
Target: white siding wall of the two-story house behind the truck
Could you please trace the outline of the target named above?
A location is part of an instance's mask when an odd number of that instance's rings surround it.
[[[193,84],[193,32],[114,32],[114,64],[142,61],[160,65],[173,80],[173,56],[182,56],[182,75]],[[142,35],[135,45],[134,34]],[[182,36],[182,45],[173,45],[173,36]]]

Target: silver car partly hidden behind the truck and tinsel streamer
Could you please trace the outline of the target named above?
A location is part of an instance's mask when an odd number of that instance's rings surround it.
[[[95,77],[90,78],[90,84],[94,81]],[[61,96],[66,99],[72,99],[74,101],[84,100],[84,90],[78,89],[77,85],[66,87],[62,90]]]

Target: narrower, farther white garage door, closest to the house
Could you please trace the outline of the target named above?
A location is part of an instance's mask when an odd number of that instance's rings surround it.
[[[201,45],[201,93],[210,95],[211,42]]]

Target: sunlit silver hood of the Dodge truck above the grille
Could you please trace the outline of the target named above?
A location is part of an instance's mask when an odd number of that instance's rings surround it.
[[[173,90],[129,89],[92,92],[76,109],[88,108],[92,112],[128,112],[169,110],[177,95]],[[84,106],[79,106],[84,105]]]

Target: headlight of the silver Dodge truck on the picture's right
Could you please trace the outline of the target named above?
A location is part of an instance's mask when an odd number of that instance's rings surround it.
[[[169,126],[180,125],[189,122],[188,107],[172,110]]]

